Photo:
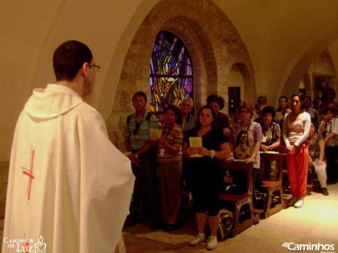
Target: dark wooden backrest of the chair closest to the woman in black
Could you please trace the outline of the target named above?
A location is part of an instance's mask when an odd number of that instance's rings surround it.
[[[222,169],[226,170],[236,170],[236,171],[245,171],[246,176],[246,194],[252,194],[252,163],[246,163],[243,161],[232,161],[232,162],[226,162],[226,160],[219,160],[220,161],[220,167]]]

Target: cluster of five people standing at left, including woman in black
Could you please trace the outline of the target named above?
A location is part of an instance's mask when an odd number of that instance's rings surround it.
[[[208,105],[201,107],[197,117],[191,113],[191,98],[183,99],[180,110],[174,106],[165,108],[164,122],[160,126],[162,135],[156,140],[151,140],[150,135],[151,130],[157,130],[159,125],[155,115],[146,110],[146,100],[145,93],[135,93],[132,102],[136,112],[128,116],[123,134],[136,177],[130,215],[125,226],[144,222],[148,211],[151,229],[177,229],[183,159],[196,156],[189,162],[194,171],[187,174],[201,232],[199,235],[203,233],[203,236],[197,236],[190,244],[196,245],[205,240],[205,229],[210,227],[207,247],[213,249],[217,246],[216,233],[220,222],[217,208],[220,165],[217,158],[230,156],[229,143],[224,135],[224,132],[229,134],[230,121],[228,116],[219,112],[224,107],[224,100],[211,95]],[[201,145],[192,145],[191,137],[200,137]],[[160,178],[162,213],[156,194],[157,173]]]

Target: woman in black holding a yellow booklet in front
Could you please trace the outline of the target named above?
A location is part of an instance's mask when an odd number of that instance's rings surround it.
[[[197,119],[197,128],[187,132],[183,147],[183,154],[190,157],[190,190],[199,232],[189,244],[197,245],[206,240],[209,225],[210,236],[206,247],[212,250],[217,247],[216,234],[220,223],[217,206],[220,189],[218,158],[228,157],[230,148],[223,132],[213,127],[215,112],[212,107],[201,107]]]

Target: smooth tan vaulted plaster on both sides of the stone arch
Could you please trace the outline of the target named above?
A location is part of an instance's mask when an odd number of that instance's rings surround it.
[[[187,1],[203,6],[207,0]],[[325,48],[338,66],[338,0],[213,1],[233,22],[247,47],[258,95],[266,93],[270,100],[290,95]],[[91,104],[107,118],[112,98],[101,93],[102,86],[115,93],[130,43],[158,3],[160,0],[0,1],[0,160],[8,160],[15,121],[31,89],[53,82],[52,52],[64,40],[84,41],[102,65]]]

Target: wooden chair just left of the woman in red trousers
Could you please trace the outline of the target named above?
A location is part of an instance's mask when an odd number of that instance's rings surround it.
[[[283,158],[285,153],[261,153],[261,162],[265,160],[277,161],[277,181],[262,181],[263,185],[256,187],[257,190],[267,194],[266,203],[263,206],[263,213],[261,216],[267,218],[279,210],[284,209],[284,195],[283,195]],[[273,206],[272,198],[278,197],[279,203]]]

